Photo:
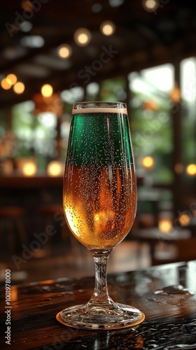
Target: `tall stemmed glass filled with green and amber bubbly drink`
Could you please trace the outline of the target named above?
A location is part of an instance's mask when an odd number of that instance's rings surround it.
[[[137,187],[126,104],[73,104],[64,172],[64,215],[73,235],[92,253],[94,293],[85,305],[57,319],[75,328],[114,329],[140,323],[144,314],[109,297],[106,265],[132,228]]]

